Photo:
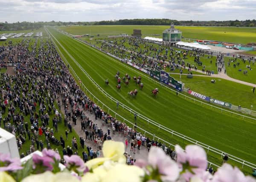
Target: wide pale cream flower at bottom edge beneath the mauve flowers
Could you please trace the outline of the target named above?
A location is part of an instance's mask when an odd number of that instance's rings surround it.
[[[70,173],[60,172],[53,174],[50,171],[41,174],[30,175],[21,182],[79,182],[79,180]]]

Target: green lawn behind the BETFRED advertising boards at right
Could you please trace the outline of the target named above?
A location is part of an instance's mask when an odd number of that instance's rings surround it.
[[[171,76],[177,80],[180,79],[180,75]],[[189,87],[195,92],[230,102],[236,106],[241,105],[247,109],[251,109],[251,105],[256,107],[256,93],[253,94],[252,87],[221,78],[214,78],[216,82],[212,84],[211,79],[211,77],[194,76],[193,78],[187,78],[186,75],[181,76],[181,81],[185,84],[185,87]],[[255,110],[255,108],[253,109]]]

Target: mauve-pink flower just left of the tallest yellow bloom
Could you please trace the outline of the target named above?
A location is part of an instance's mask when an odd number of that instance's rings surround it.
[[[84,172],[86,171],[86,167],[84,165],[84,161],[77,155],[72,155],[72,156],[63,156],[65,160],[65,165],[67,168],[76,168],[79,172]]]

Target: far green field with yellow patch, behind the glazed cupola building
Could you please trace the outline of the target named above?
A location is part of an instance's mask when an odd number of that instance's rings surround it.
[[[175,26],[182,31],[185,38],[217,40],[230,43],[250,43],[256,39],[256,28],[244,27],[196,27]],[[141,29],[143,36],[158,34],[162,35],[169,26],[138,26],[138,25],[97,25],[97,26],[61,26],[59,29],[73,35],[120,35],[126,33],[131,35],[133,29]]]

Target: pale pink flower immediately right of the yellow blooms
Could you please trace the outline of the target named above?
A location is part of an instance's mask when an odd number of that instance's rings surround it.
[[[180,173],[178,165],[159,147],[151,147],[148,164],[157,168],[163,181],[175,181]]]

